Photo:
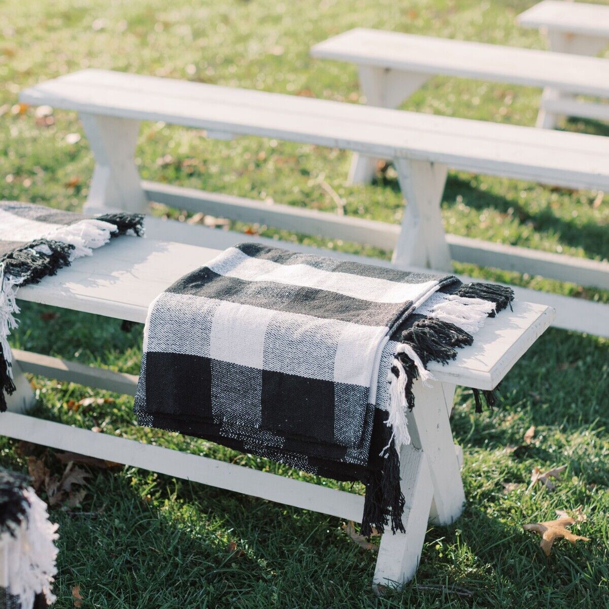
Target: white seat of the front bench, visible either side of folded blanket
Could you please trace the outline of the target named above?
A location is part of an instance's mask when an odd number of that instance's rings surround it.
[[[218,231],[220,232],[220,231]],[[23,287],[18,298],[143,323],[152,300],[219,250],[135,238],[116,239],[68,269]],[[446,366],[431,364],[438,381],[492,389],[554,319],[553,309],[517,301],[513,314],[489,319],[472,347]]]

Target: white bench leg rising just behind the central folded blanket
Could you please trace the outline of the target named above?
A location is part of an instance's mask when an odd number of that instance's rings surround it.
[[[393,263],[450,272],[451,255],[440,213],[446,165],[397,159],[395,167],[407,205]]]

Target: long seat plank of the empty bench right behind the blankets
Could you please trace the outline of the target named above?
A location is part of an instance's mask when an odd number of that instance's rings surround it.
[[[80,113],[166,121],[410,158],[454,169],[609,191],[609,138],[371,108],[159,77],[83,70],[32,86],[20,99]]]

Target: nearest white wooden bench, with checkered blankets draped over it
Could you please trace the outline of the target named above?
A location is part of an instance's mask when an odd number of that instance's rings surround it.
[[[230,239],[228,235],[227,245]],[[116,239],[91,258],[80,258],[56,276],[20,289],[18,298],[143,323],[153,298],[217,253],[213,248],[153,239]],[[513,312],[507,310],[489,319],[474,345],[460,351],[455,361],[430,365],[436,379],[431,387],[415,386],[417,407],[409,421],[413,442],[403,448],[400,457],[406,534],[382,537],[375,583],[411,579],[421,557],[428,517],[434,523],[449,524],[462,512],[460,452],[449,425],[455,386],[495,387],[553,316],[551,308],[516,301]],[[25,412],[33,395],[23,373],[127,395],[135,393],[137,378],[24,351],[16,350],[14,356],[18,391],[9,400],[9,412],[0,415],[2,435],[361,520],[364,499],[359,495],[31,417]]]

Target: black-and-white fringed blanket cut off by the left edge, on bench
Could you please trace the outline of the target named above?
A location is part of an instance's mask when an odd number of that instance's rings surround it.
[[[0,201],[0,412],[15,391],[8,337],[19,312],[19,286],[37,283],[119,234],[142,234],[143,216],[83,216],[42,205]]]

